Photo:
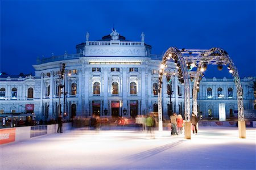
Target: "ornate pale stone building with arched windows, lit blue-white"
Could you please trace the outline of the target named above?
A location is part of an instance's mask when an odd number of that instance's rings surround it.
[[[158,111],[158,70],[162,56],[151,54],[151,46],[144,42],[143,33],[141,41],[126,40],[114,29],[98,41],[89,41],[86,33],[86,42],[76,45],[76,52],[38,58],[35,76],[2,74],[1,117],[33,113],[36,120],[50,120],[57,117],[59,107],[67,113],[67,119],[88,117],[92,113],[135,117]],[[61,79],[63,63],[65,75]],[[175,70],[174,63],[168,69]],[[245,110],[256,109],[254,81],[255,78],[241,79]],[[166,78],[163,83],[166,84],[163,117],[168,118],[171,110],[184,114],[183,85],[175,76],[171,86]],[[63,92],[66,92],[65,104]],[[233,80],[203,78],[197,103],[203,118],[217,118],[218,103],[225,103],[226,117],[233,117],[237,111]]]

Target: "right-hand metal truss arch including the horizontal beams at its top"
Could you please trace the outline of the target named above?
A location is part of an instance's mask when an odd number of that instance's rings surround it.
[[[193,113],[197,114],[197,83],[200,83],[200,75],[203,73],[201,71],[202,65],[205,63],[207,65],[228,65],[232,72],[234,83],[237,88],[237,107],[238,107],[238,130],[239,137],[246,138],[245,133],[245,116],[243,112],[243,90],[240,81],[240,76],[238,70],[234,65],[234,62],[229,57],[229,54],[221,48],[211,48],[209,50],[194,50],[194,49],[183,49],[181,50],[183,58],[185,61],[193,62],[197,65],[197,71],[194,76],[193,83]]]

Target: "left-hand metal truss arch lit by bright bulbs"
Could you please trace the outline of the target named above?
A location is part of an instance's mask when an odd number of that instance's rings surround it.
[[[184,98],[185,98],[185,138],[191,139],[191,130],[190,130],[190,90],[189,90],[189,76],[187,65],[185,59],[180,52],[180,50],[176,47],[170,47],[163,55],[161,67],[159,70],[159,78],[158,78],[158,120],[159,120],[159,131],[163,130],[163,117],[162,117],[162,84],[163,84],[163,73],[164,68],[166,67],[166,62],[170,59],[176,59],[179,64],[180,75],[184,80]],[[187,124],[187,125],[186,125]],[[188,127],[189,124],[189,127]],[[187,128],[186,128],[187,127]],[[187,132],[187,133],[186,133]]]

